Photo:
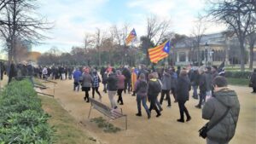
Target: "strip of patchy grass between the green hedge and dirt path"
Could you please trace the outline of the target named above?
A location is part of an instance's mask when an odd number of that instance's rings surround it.
[[[82,130],[69,113],[53,98],[39,96],[42,100],[43,109],[51,115],[49,124],[55,127],[55,143],[57,144],[95,144],[94,138]]]

